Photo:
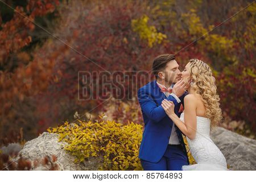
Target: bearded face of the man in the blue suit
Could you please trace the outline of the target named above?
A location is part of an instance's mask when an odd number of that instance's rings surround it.
[[[163,72],[164,81],[175,84],[181,78],[181,72],[179,71],[179,64],[175,60],[172,60],[166,64],[166,69]]]

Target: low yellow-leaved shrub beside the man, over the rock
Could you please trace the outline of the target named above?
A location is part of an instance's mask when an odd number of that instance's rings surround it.
[[[80,121],[49,128],[59,134],[59,141],[68,143],[65,150],[76,156],[75,163],[89,156],[104,156],[99,170],[142,170],[138,158],[143,126],[122,125],[114,121]]]

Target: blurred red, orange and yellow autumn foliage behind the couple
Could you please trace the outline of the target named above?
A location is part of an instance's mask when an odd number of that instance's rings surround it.
[[[180,71],[192,58],[208,63],[221,126],[255,139],[254,1],[0,0],[0,13],[1,146],[102,113],[143,125],[137,89],[152,74],[123,80],[122,99],[85,101],[78,97],[78,73],[150,73],[163,53],[176,53]]]

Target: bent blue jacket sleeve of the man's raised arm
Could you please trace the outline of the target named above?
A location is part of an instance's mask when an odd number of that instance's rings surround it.
[[[178,104],[176,99],[171,95],[167,97],[166,100],[174,102],[174,105]],[[141,105],[142,113],[146,114],[153,122],[158,123],[167,116],[163,107],[156,105],[156,102],[146,89],[141,88],[138,90],[138,101]]]

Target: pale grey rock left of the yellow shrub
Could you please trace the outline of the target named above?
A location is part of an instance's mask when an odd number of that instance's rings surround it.
[[[58,142],[58,134],[44,132],[38,138],[32,139],[24,144],[19,154],[24,159],[40,159],[44,156],[51,158],[52,155],[57,157],[56,163],[60,170],[98,170],[102,158],[88,158],[88,161],[76,164],[75,156],[68,154],[64,149],[66,142]],[[34,168],[35,170],[44,170],[45,168]]]

